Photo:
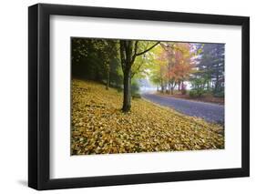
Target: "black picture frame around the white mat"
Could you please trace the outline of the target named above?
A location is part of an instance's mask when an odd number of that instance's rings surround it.
[[[50,179],[50,15],[241,26],[241,168]],[[28,186],[33,189],[69,189],[179,180],[248,177],[250,176],[250,18],[246,16],[202,15],[78,5],[37,4],[29,6],[28,102]]]

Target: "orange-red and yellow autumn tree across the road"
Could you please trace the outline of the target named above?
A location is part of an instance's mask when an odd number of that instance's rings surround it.
[[[154,49],[158,68],[152,71],[152,81],[159,82],[161,92],[166,87],[167,92],[173,94],[177,85],[183,85],[183,82],[189,79],[193,67],[193,52],[189,43],[161,42],[158,49]]]

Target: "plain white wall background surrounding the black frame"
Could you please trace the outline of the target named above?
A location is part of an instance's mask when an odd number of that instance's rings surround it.
[[[0,192],[36,193],[27,179],[27,6],[34,0],[1,2],[0,9]],[[256,12],[251,0],[41,0],[40,3],[112,6],[177,12],[251,16],[251,178],[215,179],[52,190],[46,193],[253,193],[256,188]],[[253,119],[254,118],[254,119]],[[255,189],[256,190],[256,189]]]

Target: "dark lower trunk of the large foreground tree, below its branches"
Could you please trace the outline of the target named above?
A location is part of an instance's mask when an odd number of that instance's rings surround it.
[[[124,72],[124,99],[123,99],[123,108],[124,112],[128,112],[130,110],[130,99],[131,99],[131,89],[130,89],[131,79],[130,79],[130,71]]]

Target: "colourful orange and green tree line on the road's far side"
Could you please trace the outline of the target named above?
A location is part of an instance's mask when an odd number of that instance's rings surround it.
[[[152,57],[151,81],[162,93],[177,89],[186,94],[187,83],[191,97],[223,97],[224,52],[223,44],[160,43]]]

